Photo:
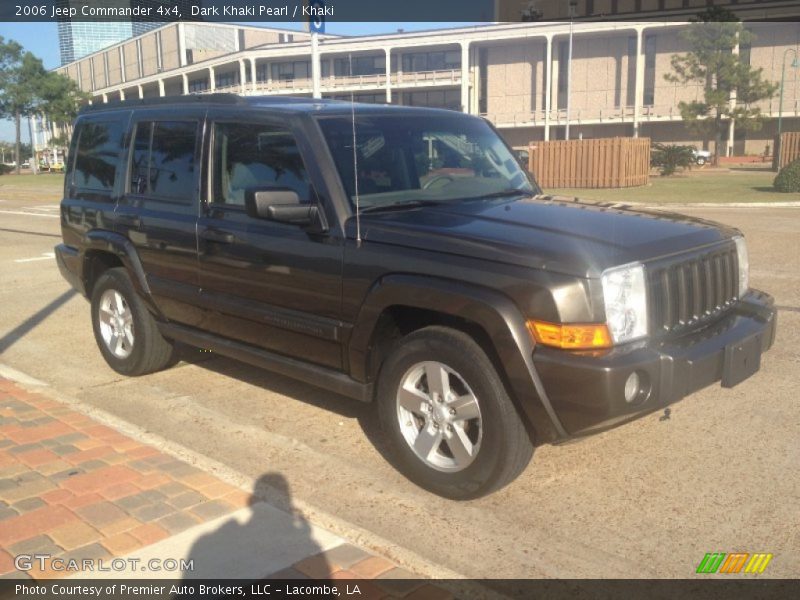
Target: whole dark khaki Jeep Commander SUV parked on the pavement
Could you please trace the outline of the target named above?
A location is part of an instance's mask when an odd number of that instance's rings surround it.
[[[775,335],[738,231],[542,195],[491,125],[445,110],[91,107],[61,223],[113,369],[184,342],[374,401],[397,467],[451,498],[534,444],[739,383]]]

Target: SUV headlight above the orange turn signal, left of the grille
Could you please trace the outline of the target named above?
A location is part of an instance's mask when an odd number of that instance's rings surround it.
[[[615,344],[647,335],[647,285],[639,263],[603,271],[606,324]]]

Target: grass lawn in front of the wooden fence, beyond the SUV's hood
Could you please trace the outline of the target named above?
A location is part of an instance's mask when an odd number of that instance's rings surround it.
[[[694,170],[672,177],[651,177],[642,187],[619,189],[560,188],[548,194],[578,196],[587,200],[644,204],[690,204],[692,202],[787,202],[800,194],[782,194],[772,189],[775,173],[767,169],[733,168]]]

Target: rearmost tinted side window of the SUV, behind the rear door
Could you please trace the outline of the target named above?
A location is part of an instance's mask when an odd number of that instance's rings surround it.
[[[72,180],[77,188],[108,193],[113,190],[122,135],[121,121],[81,124]]]

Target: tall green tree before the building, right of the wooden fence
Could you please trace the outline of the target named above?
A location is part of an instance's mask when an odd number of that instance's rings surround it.
[[[762,78],[762,69],[754,69],[734,52],[750,44],[755,36],[744,28],[732,12],[713,7],[701,13],[680,34],[689,52],[672,55],[672,73],[667,81],[701,84],[703,99],[679,102],[678,108],[687,128],[706,140],[714,139],[714,164],[719,163],[726,122],[756,131],[762,126],[761,110],[756,102],[772,98],[778,86]],[[731,105],[735,94],[736,102]]]

